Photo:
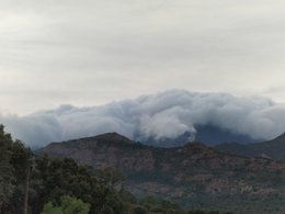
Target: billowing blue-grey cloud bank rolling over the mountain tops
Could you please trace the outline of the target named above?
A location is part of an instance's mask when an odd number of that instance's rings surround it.
[[[252,138],[285,131],[285,106],[266,98],[171,90],[100,106],[61,105],[26,116],[1,115],[8,132],[30,146],[117,132],[132,139],[175,138],[214,125]]]

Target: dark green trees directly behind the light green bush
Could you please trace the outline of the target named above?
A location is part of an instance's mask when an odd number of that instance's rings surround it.
[[[104,170],[93,171],[83,166],[78,166],[72,159],[37,158],[37,169],[41,172],[42,189],[35,199],[38,213],[47,201],[58,202],[62,195],[71,195],[91,204],[91,213],[122,213],[124,204],[122,191],[115,189],[119,180],[117,172],[112,176],[109,169],[104,178]]]

